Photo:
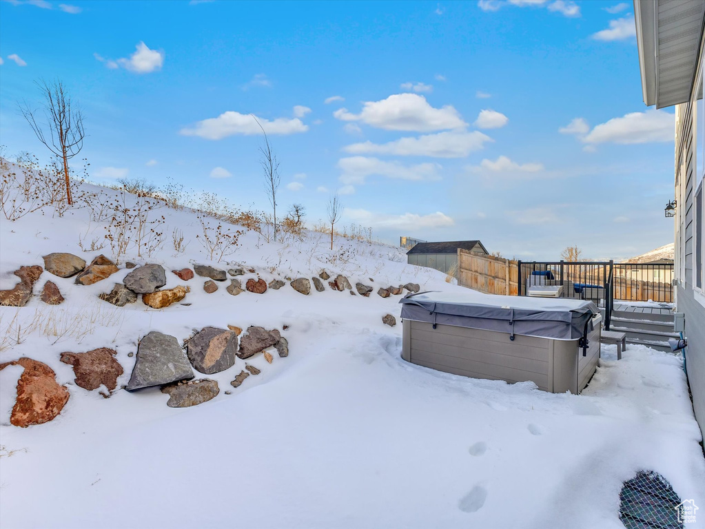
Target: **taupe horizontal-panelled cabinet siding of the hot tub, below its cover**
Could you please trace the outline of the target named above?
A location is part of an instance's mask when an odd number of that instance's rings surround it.
[[[523,382],[539,389],[580,393],[600,357],[600,325],[588,335],[586,356],[578,340],[554,340],[492,330],[455,327],[405,319],[403,351],[406,361],[455,375]]]

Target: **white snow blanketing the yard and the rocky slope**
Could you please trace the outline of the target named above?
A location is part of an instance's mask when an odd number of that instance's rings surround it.
[[[168,270],[204,263],[243,264],[267,282],[325,268],[375,292],[363,298],[326,285],[305,297],[287,284],[232,297],[227,283],[204,293],[196,277],[186,283],[190,306],[154,311],[138,301],[117,309],[97,294],[129,270],[87,287],[45,272],[35,294],[52,280],[66,302],[49,307],[35,295],[21,309],[1,307],[0,337],[21,342],[0,351],[0,361],[46,362],[71,398],[54,421],[13,427],[7,388],[19,371],[0,372],[3,528],[620,528],[620,487],[642,468],[664,475],[682,499],[705,504],[701,433],[680,356],[629,346],[616,361],[616,346],[603,347],[580,396],[415,366],[400,358],[401,325],[381,323],[386,313],[399,317],[399,297],[383,299],[376,289],[412,281],[422,291],[476,293],[407,265],[401,249],[337,237],[331,251],[317,232],[276,244],[247,232],[228,263],[216,263],[195,239],[202,232],[195,213],[159,214],[167,234],[183,230],[187,251],[167,239],[149,259],[129,257],[163,264],[166,287],[182,284]],[[42,264],[52,251],[86,261],[110,256],[109,247],[78,248],[88,216],[73,209],[63,218],[38,211],[2,220],[2,287],[16,282],[12,270]],[[101,223],[90,230],[88,240],[104,233]],[[237,389],[229,382],[244,367],[240,359],[207,375],[221,393],[192,408],[168,408],[158,388],[104,399],[75,386],[71,366],[59,362],[62,351],[111,347],[124,385],[134,362],[128,354],[149,330],[183,340],[228,324],[288,325],[290,354],[274,354],[271,365],[262,355],[248,359],[262,373]]]

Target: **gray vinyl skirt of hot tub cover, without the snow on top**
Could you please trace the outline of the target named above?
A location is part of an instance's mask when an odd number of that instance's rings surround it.
[[[436,325],[442,324],[506,332],[512,340],[514,335],[525,335],[554,340],[582,338],[587,343],[587,333],[592,330],[592,316],[597,313],[596,307],[591,303],[577,306],[575,309],[565,309],[562,306],[552,310],[548,308],[545,300],[542,301],[544,306],[527,309],[472,301],[444,301],[442,297],[419,298],[422,294],[431,293],[419,292],[401,299],[401,318],[431,323],[434,329]]]

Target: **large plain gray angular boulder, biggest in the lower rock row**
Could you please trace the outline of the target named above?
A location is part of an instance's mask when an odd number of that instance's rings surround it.
[[[173,336],[153,330],[142,338],[137,347],[135,368],[125,389],[134,391],[185,378],[193,378],[193,370],[178,341]]]

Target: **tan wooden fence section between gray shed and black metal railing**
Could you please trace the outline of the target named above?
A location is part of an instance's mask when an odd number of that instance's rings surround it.
[[[517,261],[458,249],[458,285],[462,287],[487,294],[516,296],[518,278]]]

